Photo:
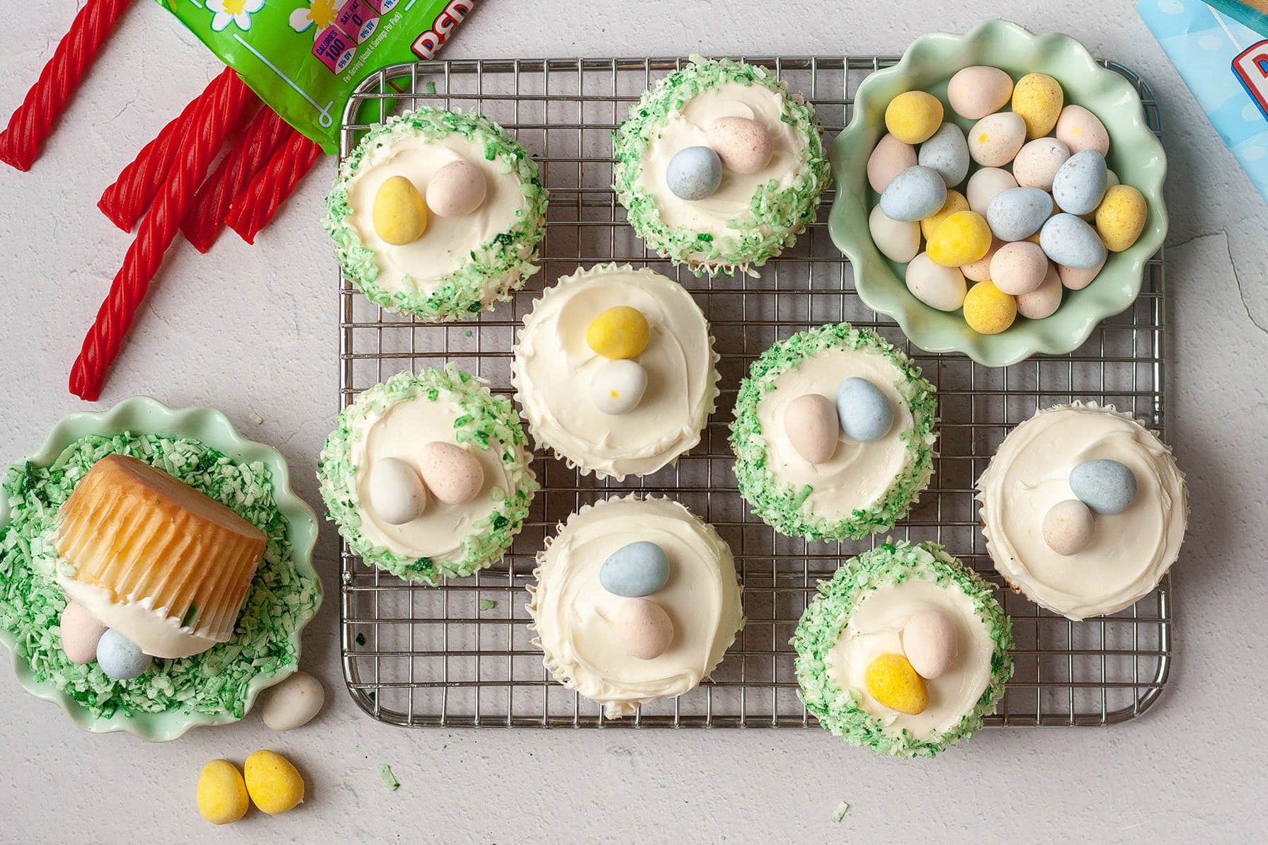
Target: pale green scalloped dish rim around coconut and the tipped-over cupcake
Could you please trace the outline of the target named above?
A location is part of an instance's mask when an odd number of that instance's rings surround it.
[[[321,579],[313,569],[313,546],[317,542],[317,516],[313,509],[304,503],[290,489],[290,474],[287,470],[287,460],[274,448],[262,443],[243,438],[233,428],[233,423],[218,410],[212,408],[186,408],[172,409],[150,397],[132,397],[124,399],[110,410],[105,412],[80,412],[70,414],[58,422],[39,451],[28,455],[25,459],[33,464],[51,464],[63,448],[71,442],[87,435],[115,435],[123,431],[133,433],[160,435],[164,437],[191,437],[199,440],[213,448],[224,452],[237,461],[261,461],[273,474],[274,498],[278,509],[287,517],[287,538],[294,549],[295,570],[308,575],[317,585],[313,614],[321,607],[322,592]],[[9,503],[0,499],[0,524],[9,521]],[[299,656],[299,639],[304,625],[309,618],[299,619],[295,630],[290,633],[295,656]],[[37,680],[27,661],[18,658],[13,650],[13,633],[0,630],[0,642],[9,649],[13,659],[13,670],[18,677],[18,683],[27,692],[43,698],[44,701],[60,704],[66,715],[71,717],[79,727],[94,734],[109,734],[113,731],[127,731],[155,742],[175,740],[193,727],[202,725],[228,725],[238,721],[231,713],[188,713],[169,711],[165,713],[137,713],[124,716],[115,713],[110,718],[93,716],[79,703],[60,690],[49,680]],[[256,675],[247,687],[246,712],[255,704],[256,696],[261,690],[280,683],[295,671],[294,668],[283,669],[271,674]]]

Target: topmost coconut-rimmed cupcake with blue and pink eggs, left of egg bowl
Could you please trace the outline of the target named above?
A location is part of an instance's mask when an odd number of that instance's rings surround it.
[[[814,220],[829,172],[820,130],[766,68],[691,61],[618,129],[616,198],[658,255],[697,276],[747,271]]]

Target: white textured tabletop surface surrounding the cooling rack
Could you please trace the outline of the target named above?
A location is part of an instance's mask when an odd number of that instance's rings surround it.
[[[52,53],[68,3],[25,4],[0,42],[0,114]],[[402,731],[341,688],[335,532],[320,546],[327,602],[304,668],[330,688],[309,726],[274,734],[257,715],[169,745],[82,734],[0,669],[0,816],[14,841],[1250,841],[1268,785],[1262,361],[1268,209],[1126,3],[985,0],[784,4],[715,0],[484,3],[441,53],[527,57],[704,51],[899,52],[924,30],[1007,11],[1064,30],[1140,71],[1161,103],[1172,162],[1168,284],[1170,440],[1193,517],[1174,581],[1177,660],[1142,720],[1104,730],[987,730],[932,761],[881,760],[818,730],[715,732]],[[596,10],[601,10],[596,14]],[[16,24],[15,24],[16,25]],[[161,9],[137,0],[28,175],[0,167],[10,397],[0,456],[33,450],[63,414],[71,361],[127,236],[101,189],[218,70]],[[214,405],[279,446],[317,500],[314,457],[336,388],[335,261],[318,226],[318,167],[254,248],[172,250],[99,407],[134,393]],[[259,426],[252,413],[264,418]],[[5,661],[8,658],[5,658]],[[204,761],[257,747],[289,755],[308,802],[213,830],[194,808]],[[401,789],[375,773],[389,763]],[[832,822],[838,803],[850,811]],[[19,829],[22,834],[19,835]],[[1253,831],[1259,831],[1258,834]]]

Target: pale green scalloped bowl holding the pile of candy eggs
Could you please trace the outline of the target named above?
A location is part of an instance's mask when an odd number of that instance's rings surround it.
[[[1083,290],[1066,290],[1061,307],[1046,319],[1017,318],[999,334],[979,334],[960,312],[929,308],[907,289],[904,265],[885,258],[872,243],[867,217],[879,200],[867,182],[867,158],[885,133],[885,106],[903,91],[924,90],[946,105],[946,85],[956,71],[974,65],[1003,68],[1017,80],[1032,71],[1047,73],[1065,89],[1066,103],[1093,111],[1110,132],[1110,168],[1136,187],[1149,203],[1145,229],[1129,250],[1110,253],[1096,280]],[[954,119],[967,129],[951,109]],[[869,308],[898,321],[907,337],[927,352],[962,352],[987,366],[1008,366],[1037,352],[1064,355],[1092,334],[1097,323],[1126,310],[1136,300],[1145,262],[1167,236],[1163,182],[1167,156],[1145,122],[1140,95],[1122,75],[1098,65],[1069,35],[1035,33],[1007,20],[988,20],[956,35],[931,33],[912,42],[903,58],[871,73],[858,85],[855,115],[832,144],[837,195],[828,231],[855,270],[855,288]]]

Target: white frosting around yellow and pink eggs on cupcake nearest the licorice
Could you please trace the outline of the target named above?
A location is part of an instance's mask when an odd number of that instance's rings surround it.
[[[427,231],[404,246],[393,246],[374,232],[374,195],[384,181],[404,176],[420,194],[426,194],[431,175],[459,158],[484,172],[488,193],[476,212],[450,218],[429,214]],[[374,251],[379,267],[375,284],[388,293],[435,289],[441,277],[468,261],[472,250],[508,232],[527,208],[516,175],[505,165],[484,158],[482,143],[456,132],[436,141],[398,134],[394,141],[375,147],[353,174],[347,203],[353,209],[350,224],[361,243]]]

